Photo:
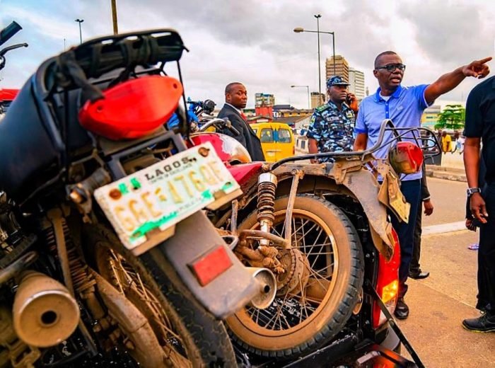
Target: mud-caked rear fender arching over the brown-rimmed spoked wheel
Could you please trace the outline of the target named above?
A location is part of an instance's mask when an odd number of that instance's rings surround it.
[[[291,178],[293,172],[300,170],[305,174],[299,183],[298,192],[327,190],[356,198],[368,218],[375,247],[390,260],[393,255],[392,226],[388,222],[387,208],[378,200],[378,181],[360,162],[349,165],[345,171],[342,170],[344,166],[337,165],[339,162],[317,165],[284,163],[272,171],[279,178],[277,192],[289,192],[292,180],[284,179]]]

